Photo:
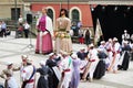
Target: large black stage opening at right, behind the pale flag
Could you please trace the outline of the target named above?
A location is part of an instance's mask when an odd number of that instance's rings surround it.
[[[100,20],[104,40],[117,37],[121,42],[124,30],[133,33],[133,7],[130,6],[98,6],[92,11],[94,29],[96,19]]]

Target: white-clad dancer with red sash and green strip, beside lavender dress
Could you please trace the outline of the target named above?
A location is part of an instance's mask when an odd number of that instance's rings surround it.
[[[62,75],[58,88],[68,88],[72,77],[72,58],[66,52],[62,52],[62,57],[59,65]]]

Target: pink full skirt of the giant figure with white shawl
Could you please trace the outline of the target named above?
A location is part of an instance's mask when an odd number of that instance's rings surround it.
[[[49,54],[51,52],[53,52],[53,46],[50,33],[45,35],[39,33],[37,36],[35,53]]]

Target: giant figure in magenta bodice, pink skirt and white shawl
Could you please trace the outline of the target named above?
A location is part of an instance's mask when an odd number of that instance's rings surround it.
[[[52,20],[47,15],[47,8],[42,8],[42,14],[37,21],[37,29],[39,31],[39,34],[37,36],[35,53],[49,54],[53,52],[53,26]]]

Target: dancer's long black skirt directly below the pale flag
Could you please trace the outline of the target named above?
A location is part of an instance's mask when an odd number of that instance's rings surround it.
[[[96,66],[95,70],[94,70],[93,78],[100,79],[104,75],[105,75],[105,62],[104,61],[100,61],[98,63],[98,66]]]

